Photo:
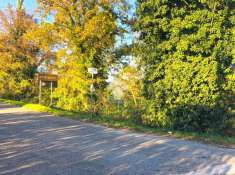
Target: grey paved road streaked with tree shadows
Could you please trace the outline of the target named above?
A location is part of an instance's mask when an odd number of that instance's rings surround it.
[[[235,150],[0,104],[0,175],[235,174]]]

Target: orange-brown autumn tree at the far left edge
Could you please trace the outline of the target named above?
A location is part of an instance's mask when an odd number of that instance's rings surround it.
[[[1,94],[20,99],[33,94],[33,79],[38,66],[49,58],[38,45],[28,40],[28,32],[37,29],[33,16],[18,7],[0,11],[0,81]]]

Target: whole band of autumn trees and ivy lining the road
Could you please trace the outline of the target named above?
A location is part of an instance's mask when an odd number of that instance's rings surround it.
[[[0,11],[0,96],[37,102],[43,70],[59,76],[56,108],[155,128],[234,127],[233,0],[136,0],[135,14],[127,0],[37,0],[40,20],[17,4]],[[50,88],[42,96],[49,105]]]

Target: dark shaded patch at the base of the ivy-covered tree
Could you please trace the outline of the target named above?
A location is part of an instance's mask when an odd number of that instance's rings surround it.
[[[172,127],[187,131],[221,131],[232,114],[221,107],[184,104],[170,109],[167,116]]]

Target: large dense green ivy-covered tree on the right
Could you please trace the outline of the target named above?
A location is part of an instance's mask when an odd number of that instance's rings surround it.
[[[231,109],[227,94],[235,89],[228,78],[233,7],[231,0],[138,1],[145,123],[201,131],[223,126]]]

